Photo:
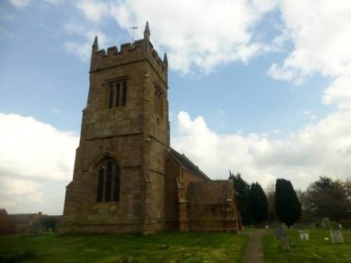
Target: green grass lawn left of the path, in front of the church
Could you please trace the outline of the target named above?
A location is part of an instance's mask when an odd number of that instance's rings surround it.
[[[0,262],[241,262],[249,236],[223,233],[0,236]],[[128,262],[128,261],[126,261]]]

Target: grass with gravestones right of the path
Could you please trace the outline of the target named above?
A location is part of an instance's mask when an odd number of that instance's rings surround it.
[[[263,247],[265,262],[318,262],[318,263],[342,263],[351,262],[351,230],[341,230],[344,243],[336,244],[331,242],[329,231],[325,229],[306,229],[309,231],[309,240],[300,240],[299,230],[287,229],[286,236],[292,242],[292,251],[282,251],[279,240],[274,239],[274,229],[263,236]],[[324,238],[329,238],[326,240]]]

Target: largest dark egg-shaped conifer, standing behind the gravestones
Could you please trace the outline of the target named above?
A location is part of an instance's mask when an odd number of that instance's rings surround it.
[[[275,210],[279,220],[291,226],[301,217],[301,205],[289,180],[278,178],[275,184]]]

